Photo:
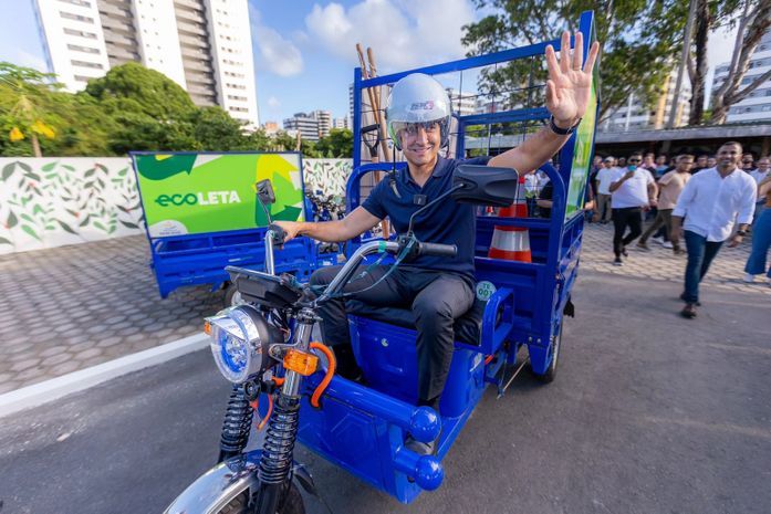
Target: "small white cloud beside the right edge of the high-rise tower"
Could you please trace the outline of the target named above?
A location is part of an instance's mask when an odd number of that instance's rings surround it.
[[[260,12],[249,6],[252,41],[257,44],[257,63],[280,76],[298,75],[303,70],[302,54],[292,41],[262,24]]]

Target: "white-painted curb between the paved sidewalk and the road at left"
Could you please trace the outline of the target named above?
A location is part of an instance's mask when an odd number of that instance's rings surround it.
[[[0,395],[0,418],[31,409],[73,392],[82,391],[115,377],[138,371],[181,357],[209,345],[209,336],[196,334],[156,346],[144,352],[119,357],[91,368],[80,369],[40,384]]]

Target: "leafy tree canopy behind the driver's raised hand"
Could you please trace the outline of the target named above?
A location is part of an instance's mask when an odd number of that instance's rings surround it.
[[[652,105],[674,67],[681,44],[687,0],[475,0],[493,9],[465,27],[468,55],[482,55],[559,36],[574,31],[581,12],[594,10],[595,32],[602,44],[600,117],[622,107],[632,94]],[[543,105],[546,71],[542,57],[518,60],[480,74],[480,92],[503,95],[507,108]]]

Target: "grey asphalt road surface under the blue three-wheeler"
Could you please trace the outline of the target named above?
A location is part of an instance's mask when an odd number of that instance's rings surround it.
[[[310,454],[338,513],[771,512],[768,296],[584,271],[556,380],[488,390],[402,505]],[[207,350],[0,419],[0,513],[157,513],[213,462],[228,386]],[[312,513],[326,513],[308,501]]]

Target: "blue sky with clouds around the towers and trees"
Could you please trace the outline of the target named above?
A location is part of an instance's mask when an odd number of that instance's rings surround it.
[[[44,70],[32,2],[0,0],[0,61]],[[347,114],[356,42],[386,74],[461,57],[460,28],[482,15],[470,0],[249,0],[249,11],[260,122],[279,124],[296,112]],[[713,34],[710,65],[731,48],[730,34]]]

